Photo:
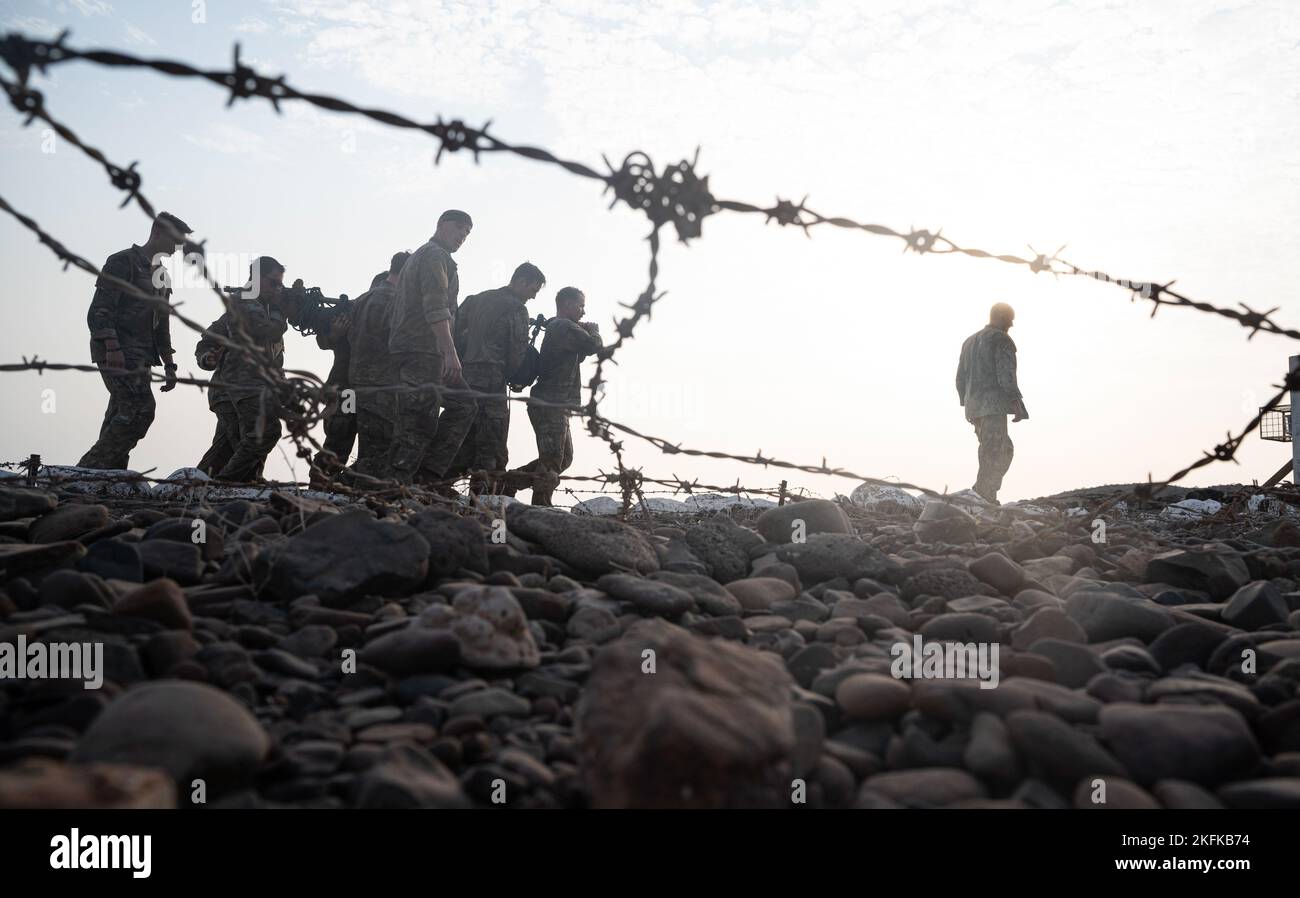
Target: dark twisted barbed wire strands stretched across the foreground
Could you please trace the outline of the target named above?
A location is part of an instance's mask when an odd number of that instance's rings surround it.
[[[1271,314],[1278,311],[1277,307],[1268,311],[1256,311],[1239,303],[1239,309],[1218,307],[1210,303],[1193,300],[1180,292],[1171,289],[1174,281],[1160,283],[1156,281],[1130,281],[1123,278],[1115,278],[1100,270],[1087,270],[1070,261],[1061,259],[1061,252],[1065,250],[1062,246],[1050,256],[1046,253],[1037,252],[1034,247],[1028,247],[1032,253],[1030,257],[1010,255],[1010,253],[996,253],[987,250],[980,250],[975,247],[965,247],[956,243],[952,238],[945,237],[942,230],[926,230],[909,227],[907,230],[897,230],[885,225],[870,224],[863,221],[857,221],[854,218],[844,216],[827,216],[820,212],[814,211],[807,205],[807,196],[805,196],[798,203],[792,200],[777,198],[771,205],[760,205],[753,203],[745,203],[740,200],[723,200],[716,199],[708,187],[708,175],[699,177],[697,173],[698,165],[698,149],[696,151],[694,159],[690,161],[681,160],[675,165],[666,166],[662,172],[658,170],[650,157],[640,151],[628,153],[619,166],[614,166],[608,159],[602,157],[607,172],[601,173],[594,168],[585,165],[582,162],[562,159],[546,149],[538,147],[528,147],[523,144],[510,144],[494,134],[489,134],[490,122],[482,127],[473,127],[465,125],[462,120],[443,120],[439,117],[436,122],[421,123],[415,120],[407,118],[399,113],[387,112],[382,109],[370,109],[355,105],[344,99],[322,95],[322,94],[307,94],[299,91],[298,88],[286,83],[285,77],[280,75],[277,78],[270,78],[255,71],[252,68],[244,65],[239,57],[239,45],[234,47],[234,60],[233,65],[228,70],[222,69],[198,69],[185,62],[170,61],[170,60],[147,60],[136,57],[129,53],[122,53],[117,51],[104,51],[104,49],[77,49],[68,47],[65,40],[68,38],[68,31],[60,34],[60,36],[53,40],[34,40],[25,36],[21,32],[10,32],[3,40],[0,40],[0,58],[16,73],[18,82],[9,82],[8,79],[0,79],[4,90],[20,113],[27,116],[26,123],[30,125],[35,120],[42,120],[51,125],[64,139],[69,140],[73,146],[78,147],[90,159],[96,161],[104,168],[109,177],[110,183],[126,192],[124,199],[124,205],[134,201],[147,216],[156,220],[156,212],[144,198],[140,186],[142,175],[136,170],[136,162],[131,162],[129,166],[121,166],[110,161],[103,152],[95,147],[86,144],[81,140],[72,129],[66,125],[56,121],[46,107],[43,95],[29,86],[29,79],[32,70],[44,74],[51,65],[82,60],[92,62],[96,65],[113,66],[113,68],[146,68],[159,71],[170,77],[179,78],[199,78],[208,81],[218,87],[228,90],[229,99],[226,105],[230,107],[235,100],[260,97],[270,101],[272,107],[278,113],[280,104],[282,101],[303,101],[317,108],[328,109],[332,112],[338,112],[343,114],[356,114],[364,116],[372,121],[381,125],[417,130],[429,134],[438,142],[438,151],[434,156],[434,164],[441,161],[441,157],[446,152],[459,152],[462,149],[469,151],[474,161],[478,161],[480,153],[484,152],[507,152],[514,153],[525,159],[532,159],[534,161],[541,161],[543,164],[550,164],[559,166],[572,174],[586,179],[601,181],[604,183],[606,191],[614,192],[614,200],[611,201],[611,208],[619,201],[625,203],[633,209],[644,212],[651,222],[651,231],[649,233],[646,240],[650,244],[650,263],[649,263],[649,281],[646,289],[638,295],[638,298],[630,303],[624,304],[623,308],[629,311],[629,314],[616,321],[618,337],[614,343],[606,346],[602,352],[597,356],[597,368],[592,378],[588,382],[589,400],[581,407],[581,415],[588,418],[588,430],[597,438],[606,442],[608,448],[615,456],[618,465],[616,474],[610,474],[607,477],[616,477],[620,491],[624,496],[624,512],[628,511],[630,499],[636,496],[637,502],[646,508],[646,500],[644,490],[641,489],[645,482],[655,482],[653,480],[645,478],[640,469],[629,469],[623,457],[623,443],[618,441],[614,435],[615,431],[628,434],[630,437],[638,438],[641,441],[649,442],[664,454],[681,454],[689,456],[703,456],[714,459],[728,459],[736,460],[746,464],[755,464],[763,467],[777,467],[792,470],[800,470],[805,473],[814,474],[828,474],[838,477],[852,477],[859,482],[879,485],[879,486],[894,486],[901,489],[918,490],[926,495],[935,498],[948,498],[946,490],[937,491],[928,487],[918,486],[914,483],[885,481],[880,478],[872,478],[862,474],[853,473],[842,468],[832,468],[822,460],[819,465],[811,464],[797,464],[790,461],[784,461],[774,457],[767,457],[759,451],[755,455],[736,455],[720,451],[706,451],[706,450],[693,450],[684,448],[680,444],[675,444],[667,439],[659,437],[651,437],[642,434],[636,429],[621,425],[599,413],[599,403],[606,395],[606,378],[604,378],[604,365],[606,363],[614,361],[614,355],[621,346],[632,339],[633,331],[642,320],[650,318],[651,309],[656,301],[663,298],[663,292],[656,289],[656,278],[659,273],[658,253],[659,253],[659,230],[671,224],[677,233],[677,238],[681,242],[689,242],[690,239],[702,235],[702,222],[706,217],[716,214],[719,212],[736,212],[742,214],[758,214],[764,216],[766,222],[776,221],[780,226],[794,226],[800,227],[811,237],[811,229],[818,226],[832,226],[840,229],[858,230],[866,234],[872,234],[878,237],[894,238],[904,243],[904,252],[915,252],[919,255],[924,253],[959,253],[970,257],[978,259],[991,259],[996,261],[1002,261],[1006,264],[1026,266],[1032,273],[1049,272],[1057,277],[1087,277],[1096,281],[1115,283],[1130,291],[1131,299],[1143,299],[1152,303],[1152,316],[1154,316],[1162,305],[1178,305],[1184,308],[1192,308],[1205,313],[1213,313],[1219,317],[1236,321],[1240,326],[1247,327],[1251,333],[1248,339],[1253,339],[1260,331],[1271,333],[1277,335],[1288,337],[1292,339],[1300,339],[1300,330],[1282,327],[1271,320]],[[35,226],[35,222],[25,216],[21,216],[14,211],[8,203],[0,199],[0,208],[9,212],[22,224],[34,230],[42,243],[48,246],[60,259],[65,263],[65,269],[69,264],[74,264],[78,268],[86,270],[87,273],[94,273],[96,277],[107,277],[99,269],[96,269],[86,260],[73,256],[62,243],[55,240],[52,237],[46,234]],[[173,229],[174,234],[174,229]],[[194,243],[185,240],[183,235],[177,235],[181,238],[183,246],[188,250],[196,248],[202,257],[203,243]],[[203,277],[208,285],[217,292],[218,298],[225,303],[225,296],[220,291],[220,286],[211,278],[207,270],[207,264],[204,261]],[[156,299],[156,298],[151,298]],[[187,326],[191,326],[200,333],[203,327],[196,326],[195,322],[188,322],[181,317],[172,304],[168,304],[169,313],[176,314],[178,318],[185,321]],[[286,373],[276,370],[274,365],[264,364],[261,360],[261,353],[255,342],[247,339],[247,334],[240,334],[240,339],[231,340],[231,344],[240,348],[242,351],[254,353],[259,357],[259,370],[268,381],[268,385],[278,389],[286,386]],[[616,363],[614,363],[616,364]],[[88,365],[66,365],[40,361],[39,359],[27,360],[23,359],[22,364],[0,365],[0,370],[94,370],[98,372],[100,368]],[[309,457],[311,452],[307,446],[315,447],[317,451],[321,448],[318,443],[307,433],[312,425],[318,422],[322,417],[322,408],[333,398],[329,392],[329,386],[322,385],[318,378],[311,376],[307,372],[295,372],[299,377],[298,382],[294,383],[292,389],[289,390],[289,403],[282,407],[281,416],[285,417],[286,424],[290,424],[290,438],[294,439],[299,446],[299,456]],[[306,376],[303,378],[302,376]],[[162,378],[160,378],[162,379]],[[177,382],[192,383],[195,386],[203,386],[200,378],[176,378]],[[1291,376],[1287,378],[1287,385],[1291,385]],[[1286,389],[1275,396],[1264,411],[1271,409],[1280,398],[1286,395]],[[462,391],[447,390],[448,395],[455,395]],[[469,391],[473,392],[473,391]],[[482,395],[482,394],[477,394]],[[494,398],[500,398],[495,396]],[[516,399],[508,396],[508,399]],[[519,398],[519,400],[536,402],[530,399]],[[1234,437],[1231,433],[1225,443],[1214,447],[1212,452],[1204,452],[1200,459],[1188,464],[1182,470],[1173,474],[1166,481],[1160,485],[1149,483],[1144,485],[1147,495],[1153,495],[1161,489],[1169,486],[1170,483],[1182,480],[1191,472],[1216,461],[1234,460],[1236,450],[1240,447],[1242,441],[1247,434],[1254,430],[1264,415],[1254,416],[1252,421],[1243,429],[1243,431]],[[610,481],[612,482],[612,481]],[[685,483],[686,481],[673,480],[672,485]],[[738,487],[738,481],[737,481]],[[1143,489],[1132,491],[1135,498],[1143,493]]]

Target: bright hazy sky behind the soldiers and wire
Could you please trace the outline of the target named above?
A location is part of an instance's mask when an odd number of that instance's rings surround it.
[[[203,19],[203,21],[196,21]],[[800,199],[896,229],[942,227],[963,246],[1027,244],[1138,281],[1176,278],[1219,305],[1280,305],[1300,326],[1300,6],[1291,3],[393,3],[378,0],[6,0],[0,26],[77,47],[229,66],[231,45],[307,91],[420,120],[493,120],[506,140],[593,166],[644,149],[659,164],[702,147],[714,194]],[[6,73],[8,74],[8,73]],[[113,160],[139,160],[146,195],[212,253],[274,255],[289,278],[358,295],[389,256],[458,207],[476,226],[458,255],[462,296],[520,261],[588,295],[612,335],[645,285],[649,225],[607,211],[599,185],[528,160],[467,155],[360,118],[263,100],[225,108],[212,84],[83,62],[38,78],[49,110]],[[77,149],[0,113],[0,195],[96,264],[143,243],[148,222]],[[861,233],[719,214],[689,247],[664,234],[653,320],[610,369],[606,413],[689,447],[832,464],[957,490],[976,443],[953,387],[962,340],[994,301],[1018,313],[1020,387],[1004,499],[1157,478],[1240,428],[1286,372],[1291,340],[1130,303],[1118,287],[958,256],[904,255]],[[0,361],[88,360],[91,279],[0,218]],[[231,276],[231,281],[234,276]],[[220,313],[203,290],[185,312]],[[286,364],[329,356],[290,331]],[[182,373],[195,335],[173,324]],[[584,366],[584,378],[590,364]],[[0,460],[74,463],[105,396],[94,374],[5,374]],[[53,390],[55,407],[49,411]],[[514,407],[511,463],[536,455]],[[213,429],[192,387],[159,396],[133,455],[162,476],[194,464]],[[608,470],[575,425],[569,473]],[[282,444],[289,448],[287,443]],[[820,495],[854,482],[664,456],[650,476]],[[1190,483],[1264,480],[1290,447],[1252,437],[1240,467]],[[306,478],[298,463],[296,474]],[[289,477],[281,452],[268,476]]]

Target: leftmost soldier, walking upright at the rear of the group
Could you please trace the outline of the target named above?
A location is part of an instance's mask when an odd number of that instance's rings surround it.
[[[108,389],[108,409],[99,439],[77,464],[82,468],[126,468],[131,450],[153,422],[155,400],[150,369],[161,364],[166,373],[162,392],[176,389],[172,352],[172,318],[162,303],[172,289],[160,256],[170,255],[185,240],[190,226],[169,212],[160,212],[144,246],[114,252],[95,281],[86,324],[90,326],[90,357]],[[116,278],[116,281],[114,281]],[[125,281],[135,292],[124,287]],[[144,296],[156,298],[151,301]]]

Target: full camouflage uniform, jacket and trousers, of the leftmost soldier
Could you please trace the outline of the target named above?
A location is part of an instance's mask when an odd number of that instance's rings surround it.
[[[162,356],[172,353],[170,317],[165,308],[131,295],[108,277],[133,283],[150,296],[168,299],[172,295],[169,286],[153,286],[155,270],[144,250],[133,244],[130,250],[109,256],[104,273],[95,282],[95,296],[86,314],[91,361],[103,366],[108,357],[105,340],[116,339],[126,372],[100,373],[108,389],[108,409],[99,439],[77,463],[82,468],[126,468],[131,450],[153,422],[150,368],[162,364]]]

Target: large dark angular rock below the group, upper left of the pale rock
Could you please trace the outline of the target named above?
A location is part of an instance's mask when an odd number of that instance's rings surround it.
[[[343,606],[361,595],[403,595],[424,582],[429,543],[404,524],[364,513],[335,515],[280,546],[270,560],[273,591],[318,595]]]

